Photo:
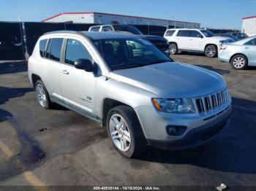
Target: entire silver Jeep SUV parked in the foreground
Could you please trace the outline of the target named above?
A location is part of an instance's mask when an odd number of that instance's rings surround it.
[[[28,63],[43,108],[61,104],[106,126],[127,157],[146,144],[197,147],[229,124],[219,74],[176,63],[138,36],[56,31],[39,38]]]

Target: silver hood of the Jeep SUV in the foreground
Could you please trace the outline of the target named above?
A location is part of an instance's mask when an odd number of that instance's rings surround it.
[[[225,87],[225,81],[216,72],[176,62],[111,71],[110,78],[162,98],[194,98]]]

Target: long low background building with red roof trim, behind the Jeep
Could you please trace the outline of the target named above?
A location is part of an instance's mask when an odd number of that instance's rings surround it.
[[[128,24],[148,26],[169,26],[169,28],[200,28],[200,23],[187,21],[164,20],[150,17],[116,15],[103,12],[64,12],[42,20],[42,22],[72,22],[94,24]]]

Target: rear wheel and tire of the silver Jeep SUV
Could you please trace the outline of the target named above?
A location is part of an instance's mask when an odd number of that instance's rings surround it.
[[[42,83],[41,80],[37,80],[34,89],[36,90],[37,101],[39,105],[45,109],[50,109],[53,106],[53,104],[50,101],[48,91],[46,90],[45,85]]]

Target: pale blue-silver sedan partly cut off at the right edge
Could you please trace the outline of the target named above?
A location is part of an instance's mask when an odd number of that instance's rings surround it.
[[[219,61],[231,63],[231,66],[238,70],[256,66],[256,36],[222,44],[218,57]]]

